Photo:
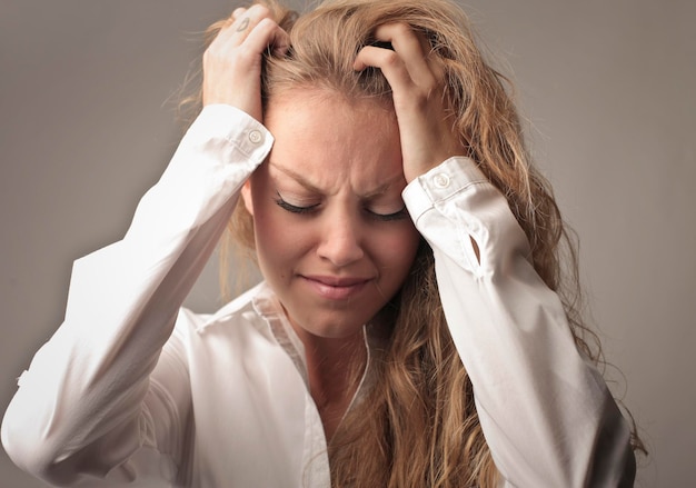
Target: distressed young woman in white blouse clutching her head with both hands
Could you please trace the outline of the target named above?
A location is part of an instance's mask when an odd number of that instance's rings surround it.
[[[80,486],[630,486],[558,209],[464,14],[266,2],[212,33],[200,114],[20,378],[12,459]],[[264,282],[181,309],[226,229]]]

